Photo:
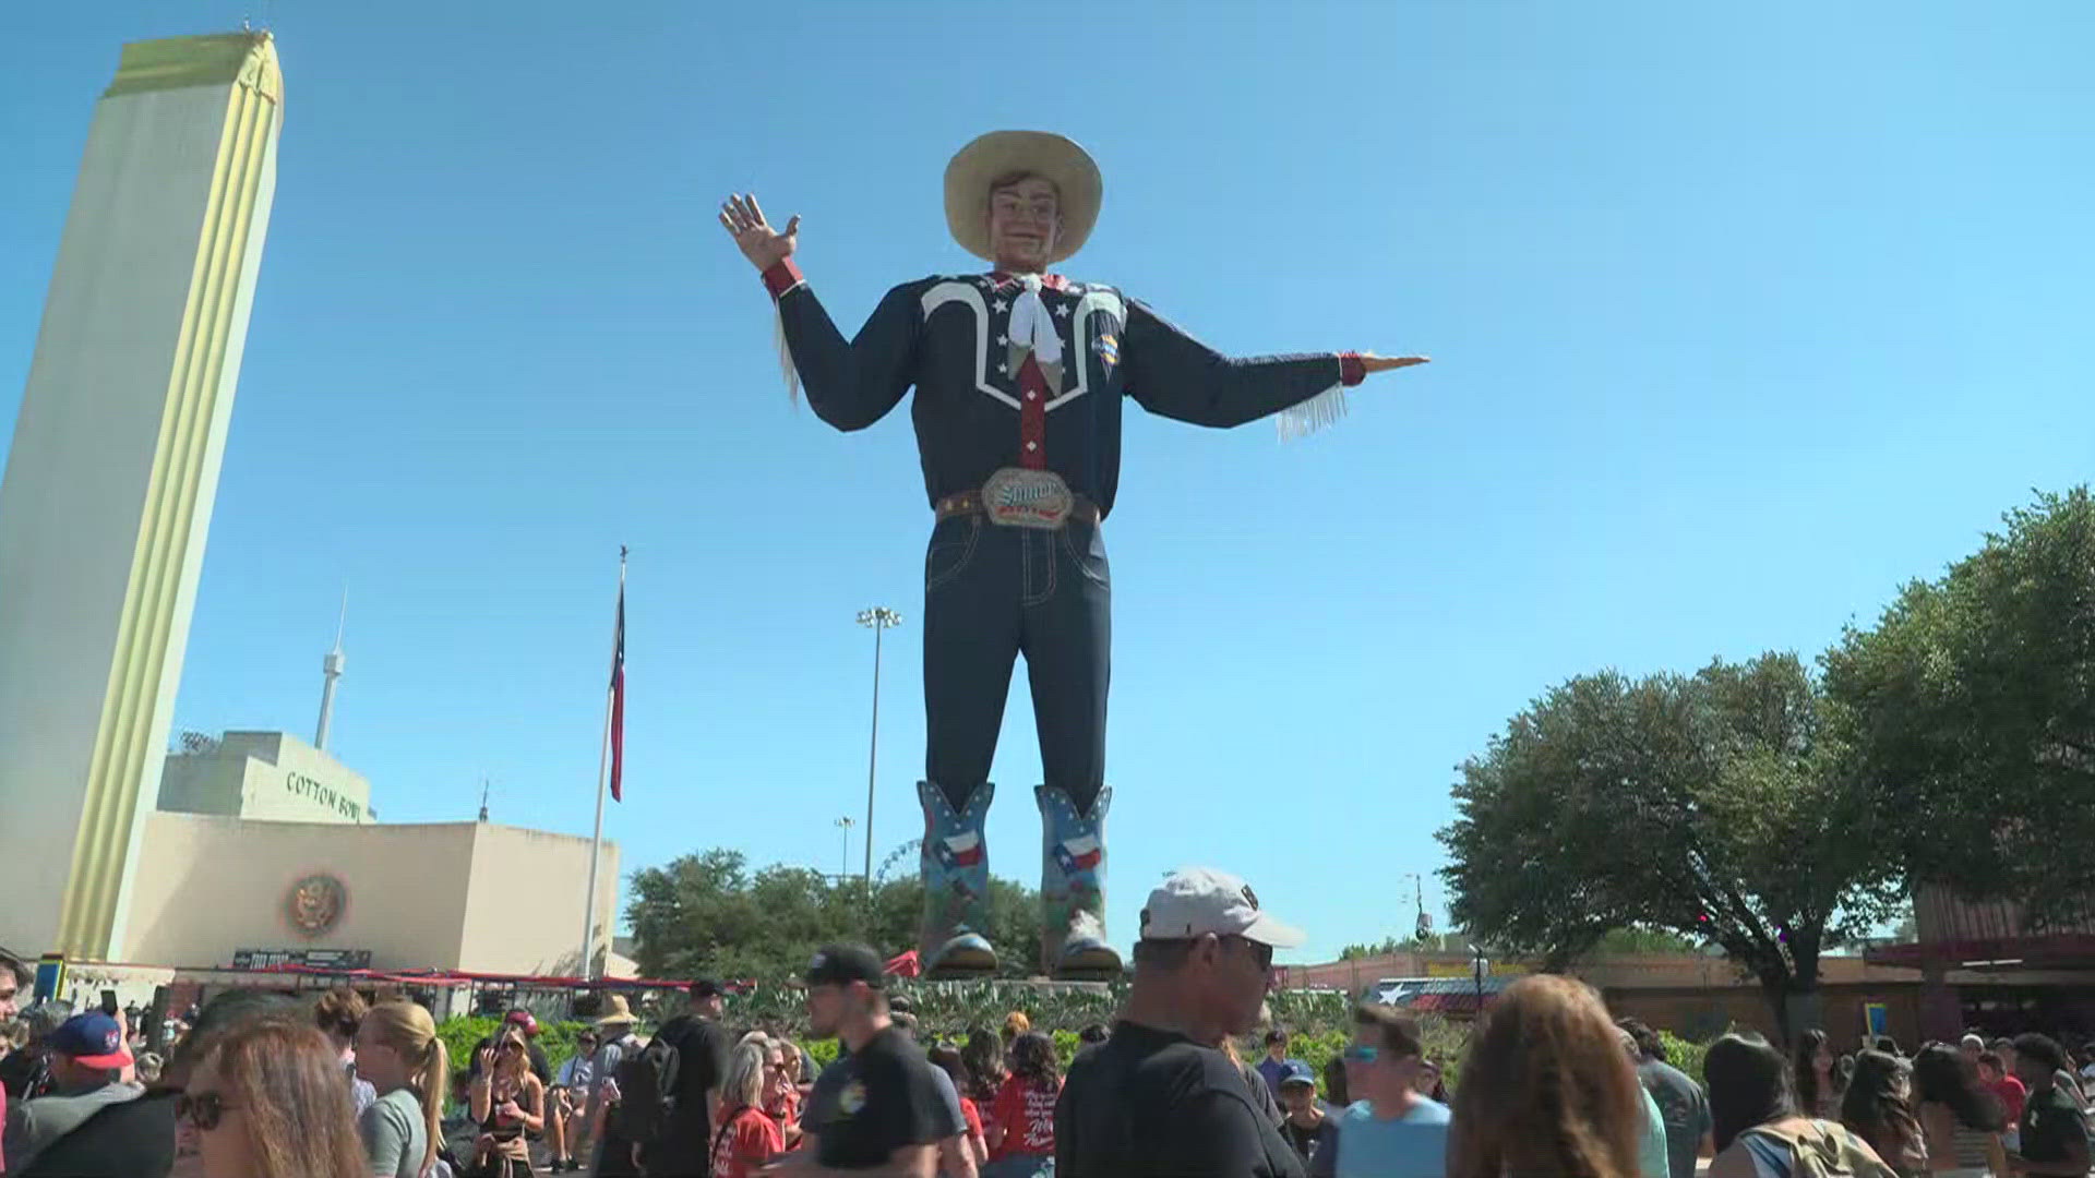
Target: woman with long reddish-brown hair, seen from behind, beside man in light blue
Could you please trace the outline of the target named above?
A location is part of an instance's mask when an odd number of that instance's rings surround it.
[[[1601,996],[1569,977],[1523,977],[1471,1040],[1448,1178],[1638,1178],[1642,1128],[1645,1088]]]

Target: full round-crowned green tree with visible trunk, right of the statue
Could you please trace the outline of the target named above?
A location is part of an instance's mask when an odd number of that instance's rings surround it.
[[[1844,723],[1793,654],[1554,688],[1460,767],[1452,916],[1563,968],[1615,929],[1714,941],[1783,1033],[1818,954],[1898,899]]]

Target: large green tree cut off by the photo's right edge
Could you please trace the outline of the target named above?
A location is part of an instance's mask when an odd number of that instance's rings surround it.
[[[2095,501],[2038,495],[1825,656],[1917,880],[2078,920],[2095,893]]]

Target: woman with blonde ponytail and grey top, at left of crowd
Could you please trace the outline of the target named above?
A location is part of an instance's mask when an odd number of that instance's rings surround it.
[[[404,998],[373,1006],[356,1029],[356,1073],[379,1094],[356,1119],[369,1174],[421,1178],[444,1140],[450,1086],[450,1052],[436,1038],[436,1019]]]

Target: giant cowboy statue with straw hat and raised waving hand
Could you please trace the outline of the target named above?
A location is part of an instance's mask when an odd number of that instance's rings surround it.
[[[1368,373],[1425,363],[1355,352],[1228,358],[1115,287],[1048,272],[1077,254],[1104,182],[1058,134],[993,132],[945,170],[945,220],[987,275],[903,283],[846,340],[773,228],[731,197],[721,224],[777,302],[790,386],[863,430],[916,386],[936,522],[924,558],[924,931],[932,977],[991,973],[983,822],[1012,660],[1027,656],[1041,776],[1041,968],[1121,973],[1106,941],[1110,581],[1100,524],[1121,476],[1121,402],[1194,426],[1282,413],[1301,432]]]

